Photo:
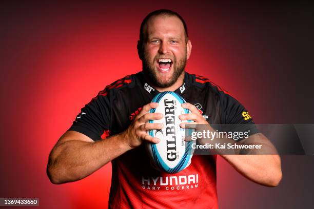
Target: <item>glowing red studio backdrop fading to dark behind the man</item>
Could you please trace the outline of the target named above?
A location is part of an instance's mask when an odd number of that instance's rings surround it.
[[[228,90],[256,123],[314,123],[310,2],[75,2],[0,5],[0,197],[42,208],[107,207],[111,165],[84,180],[49,182],[49,151],[96,93],[138,72],[139,26],[160,8],[179,12],[192,41],[187,71]],[[221,208],[312,208],[312,156],[282,156],[278,187],[254,184],[218,158]]]

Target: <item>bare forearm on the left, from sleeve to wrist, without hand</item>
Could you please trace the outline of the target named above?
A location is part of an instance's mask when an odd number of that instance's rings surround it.
[[[118,134],[96,142],[69,140],[51,151],[47,173],[53,183],[80,180],[131,148]]]

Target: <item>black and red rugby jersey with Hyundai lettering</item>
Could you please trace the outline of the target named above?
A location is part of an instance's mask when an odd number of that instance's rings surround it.
[[[197,107],[209,124],[253,124],[241,103],[207,78],[185,72],[183,85],[174,92]],[[142,72],[126,76],[82,108],[69,130],[105,140],[127,129],[158,93]],[[215,155],[194,155],[176,174],[156,171],[144,145],[112,160],[109,208],[217,208],[217,200]]]

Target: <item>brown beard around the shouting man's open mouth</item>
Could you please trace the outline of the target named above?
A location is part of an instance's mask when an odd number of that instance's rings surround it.
[[[144,54],[143,60],[142,60],[142,66],[143,66],[143,72],[144,74],[149,78],[151,81],[152,85],[160,88],[167,88],[172,86],[176,80],[178,80],[179,76],[182,74],[184,71],[185,65],[186,65],[186,60],[187,56],[185,53],[184,58],[180,60],[176,60],[175,57],[172,59],[172,77],[168,79],[167,81],[162,81],[161,79],[158,78],[157,76],[157,71],[155,70],[156,66],[154,65],[156,61],[161,58],[159,56],[156,56],[152,63],[149,62],[149,57],[147,54]]]

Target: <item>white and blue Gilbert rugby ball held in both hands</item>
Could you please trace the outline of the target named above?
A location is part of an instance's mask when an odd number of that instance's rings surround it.
[[[186,101],[174,92],[166,91],[156,95],[151,102],[159,103],[157,108],[151,109],[150,113],[162,113],[160,120],[150,120],[151,123],[163,123],[161,130],[149,130],[152,137],[160,138],[159,143],[148,143],[148,153],[155,168],[167,173],[178,173],[187,168],[191,163],[193,149],[192,141],[185,141],[186,130],[180,127],[179,115],[190,113],[188,109],[181,107]],[[191,134],[192,130],[187,130]]]

